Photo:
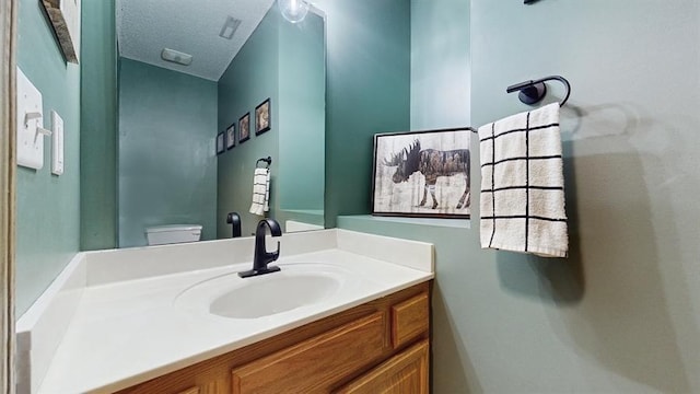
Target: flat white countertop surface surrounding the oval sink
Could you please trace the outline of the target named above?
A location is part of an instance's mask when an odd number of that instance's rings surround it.
[[[354,241],[358,240],[361,237]],[[126,389],[433,277],[432,269],[415,269],[368,257],[366,251],[353,253],[335,246],[283,256],[276,265],[282,269],[300,263],[341,267],[353,273],[348,291],[316,304],[258,318],[220,317],[175,303],[177,296],[191,286],[249,269],[250,263],[89,286],[38,392],[102,393]],[[432,262],[429,266],[432,267]]]

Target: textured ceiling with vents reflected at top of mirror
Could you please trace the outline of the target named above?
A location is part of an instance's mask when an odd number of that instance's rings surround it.
[[[119,56],[218,81],[275,0],[117,0]],[[231,39],[219,34],[241,20]],[[161,59],[163,48],[192,56],[190,66]]]

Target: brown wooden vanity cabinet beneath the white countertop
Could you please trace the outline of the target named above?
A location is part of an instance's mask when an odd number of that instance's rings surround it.
[[[430,282],[119,393],[429,392]]]

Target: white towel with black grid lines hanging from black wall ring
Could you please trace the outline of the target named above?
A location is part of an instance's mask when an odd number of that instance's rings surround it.
[[[567,257],[559,104],[479,128],[481,247]]]

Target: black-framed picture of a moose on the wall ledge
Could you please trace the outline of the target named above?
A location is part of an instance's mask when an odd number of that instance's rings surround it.
[[[374,136],[372,215],[468,218],[469,129]]]

